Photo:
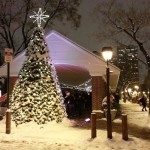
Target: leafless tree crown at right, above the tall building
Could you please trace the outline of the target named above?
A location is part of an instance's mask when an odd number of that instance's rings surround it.
[[[118,43],[138,46],[145,58],[150,77],[149,6],[149,0],[102,0],[96,6],[94,15],[100,26],[104,27],[103,31],[97,34],[98,38],[111,38]]]

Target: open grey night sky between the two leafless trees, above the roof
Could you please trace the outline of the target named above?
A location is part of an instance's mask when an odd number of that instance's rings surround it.
[[[100,43],[93,36],[98,27],[97,23],[94,23],[93,16],[91,15],[97,2],[99,0],[83,0],[79,7],[79,13],[82,15],[81,25],[76,31],[70,27],[69,23],[66,26],[58,23],[54,29],[89,51],[99,50]]]

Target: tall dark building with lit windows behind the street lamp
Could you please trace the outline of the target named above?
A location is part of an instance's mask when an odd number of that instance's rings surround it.
[[[121,70],[118,92],[129,84],[139,83],[138,49],[136,47],[118,47],[111,63]]]

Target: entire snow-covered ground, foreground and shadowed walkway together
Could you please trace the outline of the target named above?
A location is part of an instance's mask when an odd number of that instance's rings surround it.
[[[129,140],[122,140],[121,119],[113,121],[113,138],[107,139],[106,119],[98,120],[97,137],[91,139],[90,122],[65,119],[47,125],[28,123],[5,133],[5,119],[0,121],[0,150],[149,150],[150,123],[147,112],[137,104],[122,104],[128,114]]]

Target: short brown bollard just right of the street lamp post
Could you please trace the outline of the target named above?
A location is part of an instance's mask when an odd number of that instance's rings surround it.
[[[122,114],[122,139],[128,140],[128,123],[126,114]]]

